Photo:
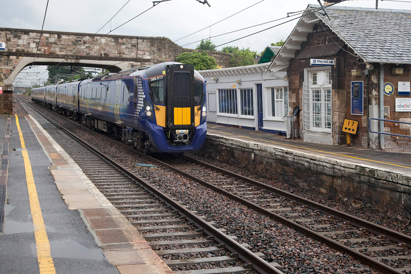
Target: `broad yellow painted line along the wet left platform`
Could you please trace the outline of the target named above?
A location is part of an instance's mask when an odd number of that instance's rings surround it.
[[[42,209],[40,207],[39,197],[37,195],[36,184],[34,183],[31,162],[25,147],[23,132],[19,124],[19,117],[16,117],[17,130],[19,131],[20,142],[22,144],[22,154],[24,161],[24,170],[26,174],[28,199],[30,203],[31,216],[33,218],[34,237],[36,239],[37,261],[39,262],[40,274],[55,274],[53,258],[51,257],[50,242],[46,233]]]

